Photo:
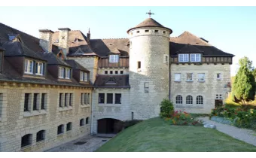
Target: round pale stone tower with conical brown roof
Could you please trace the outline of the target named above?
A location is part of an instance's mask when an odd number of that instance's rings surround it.
[[[148,18],[127,33],[132,118],[157,117],[160,102],[169,98],[169,35],[172,29]]]

